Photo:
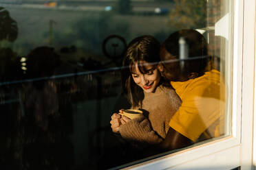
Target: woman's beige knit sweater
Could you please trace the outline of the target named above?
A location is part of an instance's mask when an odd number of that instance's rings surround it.
[[[155,93],[145,93],[142,101],[144,116],[120,125],[122,138],[136,143],[160,143],[167,135],[169,121],[182,101],[172,88],[158,86]]]

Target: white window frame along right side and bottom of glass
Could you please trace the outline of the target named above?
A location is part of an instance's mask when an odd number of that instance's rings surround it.
[[[255,0],[234,0],[232,16],[232,135],[125,169],[253,169]]]

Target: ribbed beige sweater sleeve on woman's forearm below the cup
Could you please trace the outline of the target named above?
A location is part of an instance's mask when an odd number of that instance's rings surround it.
[[[150,122],[146,117],[132,119],[125,125],[121,125],[119,132],[122,138],[138,143],[156,144],[163,140],[152,130]]]

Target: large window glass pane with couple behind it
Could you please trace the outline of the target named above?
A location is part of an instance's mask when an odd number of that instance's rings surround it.
[[[0,169],[118,169],[231,135],[231,5],[1,0]]]

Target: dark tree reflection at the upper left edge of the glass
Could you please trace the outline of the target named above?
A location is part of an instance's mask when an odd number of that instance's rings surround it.
[[[13,42],[18,36],[17,22],[10,17],[10,14],[3,7],[0,7],[0,40]]]

